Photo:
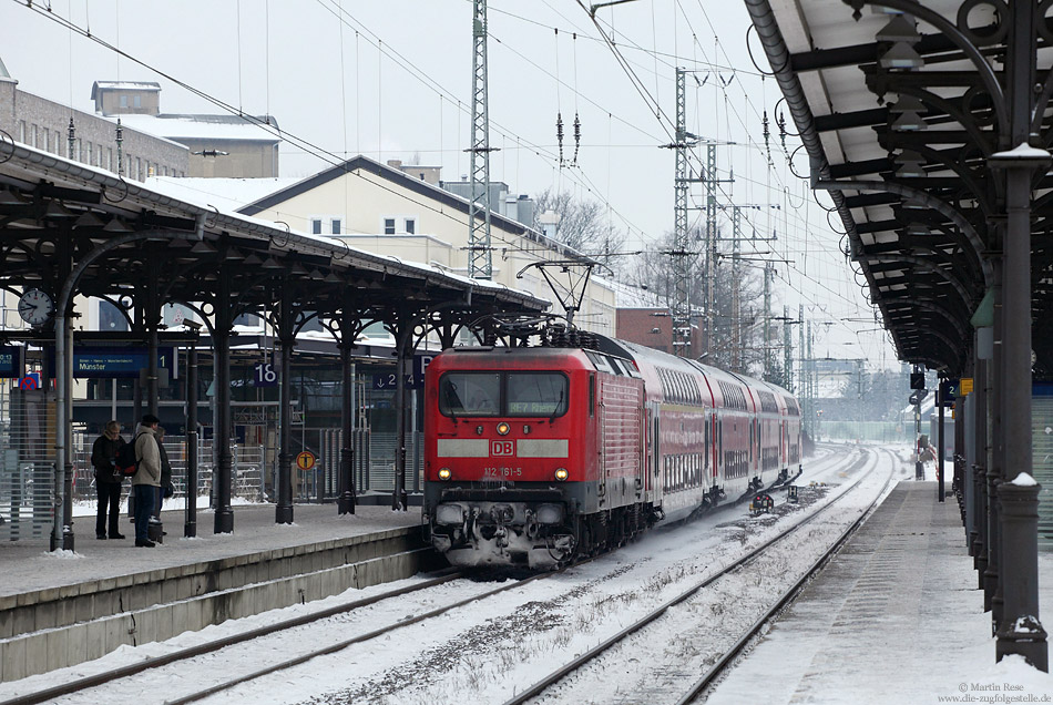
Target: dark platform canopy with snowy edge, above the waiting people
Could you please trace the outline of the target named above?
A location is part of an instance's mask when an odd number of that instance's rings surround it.
[[[549,306],[525,292],[290,232],[206,202],[0,139],[0,287],[16,295],[39,288],[58,303],[75,276],[74,296],[112,302],[133,330],[142,323],[131,316],[135,308],[156,315],[170,302],[195,305],[206,317],[222,306],[233,309],[228,318],[273,313],[283,287],[298,311],[334,316],[350,309],[382,323],[423,320],[436,310],[468,324],[487,313]],[[147,302],[147,293],[156,300]]]

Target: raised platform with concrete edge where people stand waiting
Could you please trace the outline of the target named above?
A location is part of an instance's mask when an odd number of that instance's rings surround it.
[[[126,539],[102,541],[94,517],[78,517],[73,552],[0,544],[0,682],[436,568],[419,509],[297,504],[293,524],[274,517],[273,504],[236,505],[234,532],[215,534],[200,510],[184,539],[183,511],[162,512],[167,535],[152,549],[135,546],[131,522]]]

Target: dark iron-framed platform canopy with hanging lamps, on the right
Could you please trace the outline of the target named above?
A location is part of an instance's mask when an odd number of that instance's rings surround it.
[[[1010,129],[1019,111],[1006,6],[745,1],[756,29],[749,41],[756,48],[759,38],[785,96],[777,113],[789,113],[787,130],[804,143],[795,168],[810,167],[814,186],[830,192],[830,223],[845,233],[842,249],[900,358],[957,375],[973,349],[972,324],[990,318],[991,297],[981,303],[995,285],[992,264],[1002,249],[1006,180],[992,156],[1019,146]],[[1030,142],[1042,162],[1053,136],[1053,23],[1034,24],[1036,45],[1018,61],[1037,65]],[[1040,376],[1053,372],[1053,183],[1044,166],[1034,174],[1031,290]]]

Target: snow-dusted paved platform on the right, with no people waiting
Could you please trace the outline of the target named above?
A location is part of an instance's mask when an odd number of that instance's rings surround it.
[[[995,664],[958,503],[936,494],[936,482],[893,488],[706,702],[1053,701],[1053,676],[1015,656]],[[1049,623],[1053,555],[1040,554],[1039,571]]]

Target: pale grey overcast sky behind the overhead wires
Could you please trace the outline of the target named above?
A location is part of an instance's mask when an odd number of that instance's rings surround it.
[[[48,2],[33,3],[41,4]],[[51,9],[150,68],[23,0],[0,0],[0,59],[24,91],[91,111],[93,81],[157,81],[163,112],[222,112],[156,70],[246,113],[270,113],[289,142],[314,145],[286,142],[283,176],[306,176],[358,153],[441,165],[447,180],[469,172],[470,0],[52,0]],[[672,142],[675,68],[689,69],[688,130],[719,143],[722,180],[734,171],[734,183],[720,185],[722,204],[759,206],[744,212],[746,233],[778,238],[743,251],[789,262],[777,263],[776,306],[796,315],[804,304],[806,317],[826,321],[816,326],[817,356],[896,366],[839,254],[840,236],[787,165],[775,124],[780,93],[747,52],[742,2],[636,0],[601,9],[596,20],[618,55],[575,0],[490,0],[490,143],[500,150],[491,180],[513,193],[558,188],[607,204],[631,247],[653,245],[673,227],[674,154],[661,146]],[[768,70],[750,34],[754,57]],[[575,113],[581,147],[573,165]],[[788,139],[787,152],[798,144]],[[704,160],[699,149],[695,175]],[[804,150],[795,167],[807,176]],[[820,202],[829,206],[826,196]],[[704,207],[701,186],[692,203]],[[691,219],[701,223],[704,211]]]

